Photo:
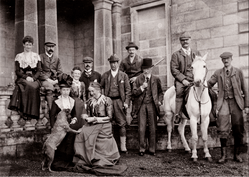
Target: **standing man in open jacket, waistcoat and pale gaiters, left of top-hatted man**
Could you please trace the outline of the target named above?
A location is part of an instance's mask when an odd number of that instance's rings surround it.
[[[114,54],[108,59],[111,69],[101,77],[101,86],[104,95],[113,101],[114,121],[119,126],[120,150],[127,153],[126,149],[126,110],[130,103],[131,87],[127,74],[118,69],[119,58]]]

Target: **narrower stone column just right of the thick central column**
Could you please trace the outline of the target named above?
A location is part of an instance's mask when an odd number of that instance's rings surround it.
[[[113,3],[112,9],[112,30],[113,30],[113,53],[121,58],[121,4],[122,0],[117,0]]]

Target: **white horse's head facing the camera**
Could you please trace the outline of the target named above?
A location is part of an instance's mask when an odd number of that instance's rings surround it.
[[[194,75],[194,84],[196,87],[200,87],[201,83],[205,81],[206,74],[207,74],[207,68],[206,68],[206,59],[207,54],[203,57],[196,56],[193,63],[193,75]]]

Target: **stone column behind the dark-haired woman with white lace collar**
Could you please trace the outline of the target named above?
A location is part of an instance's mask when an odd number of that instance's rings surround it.
[[[15,54],[23,52],[22,39],[29,35],[34,38],[33,52],[38,52],[37,1],[15,1]]]

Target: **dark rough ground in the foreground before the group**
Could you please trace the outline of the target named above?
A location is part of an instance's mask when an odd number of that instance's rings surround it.
[[[120,164],[126,164],[127,170],[123,176],[249,176],[248,154],[243,148],[243,163],[233,161],[233,147],[228,149],[228,162],[217,164],[220,158],[220,148],[210,150],[213,162],[204,159],[202,149],[198,150],[198,162],[191,161],[191,154],[184,150],[172,152],[157,151],[156,156],[145,154],[139,156],[137,151],[121,154]],[[55,172],[41,170],[41,157],[31,156],[0,162],[0,176],[89,176],[74,172]]]

